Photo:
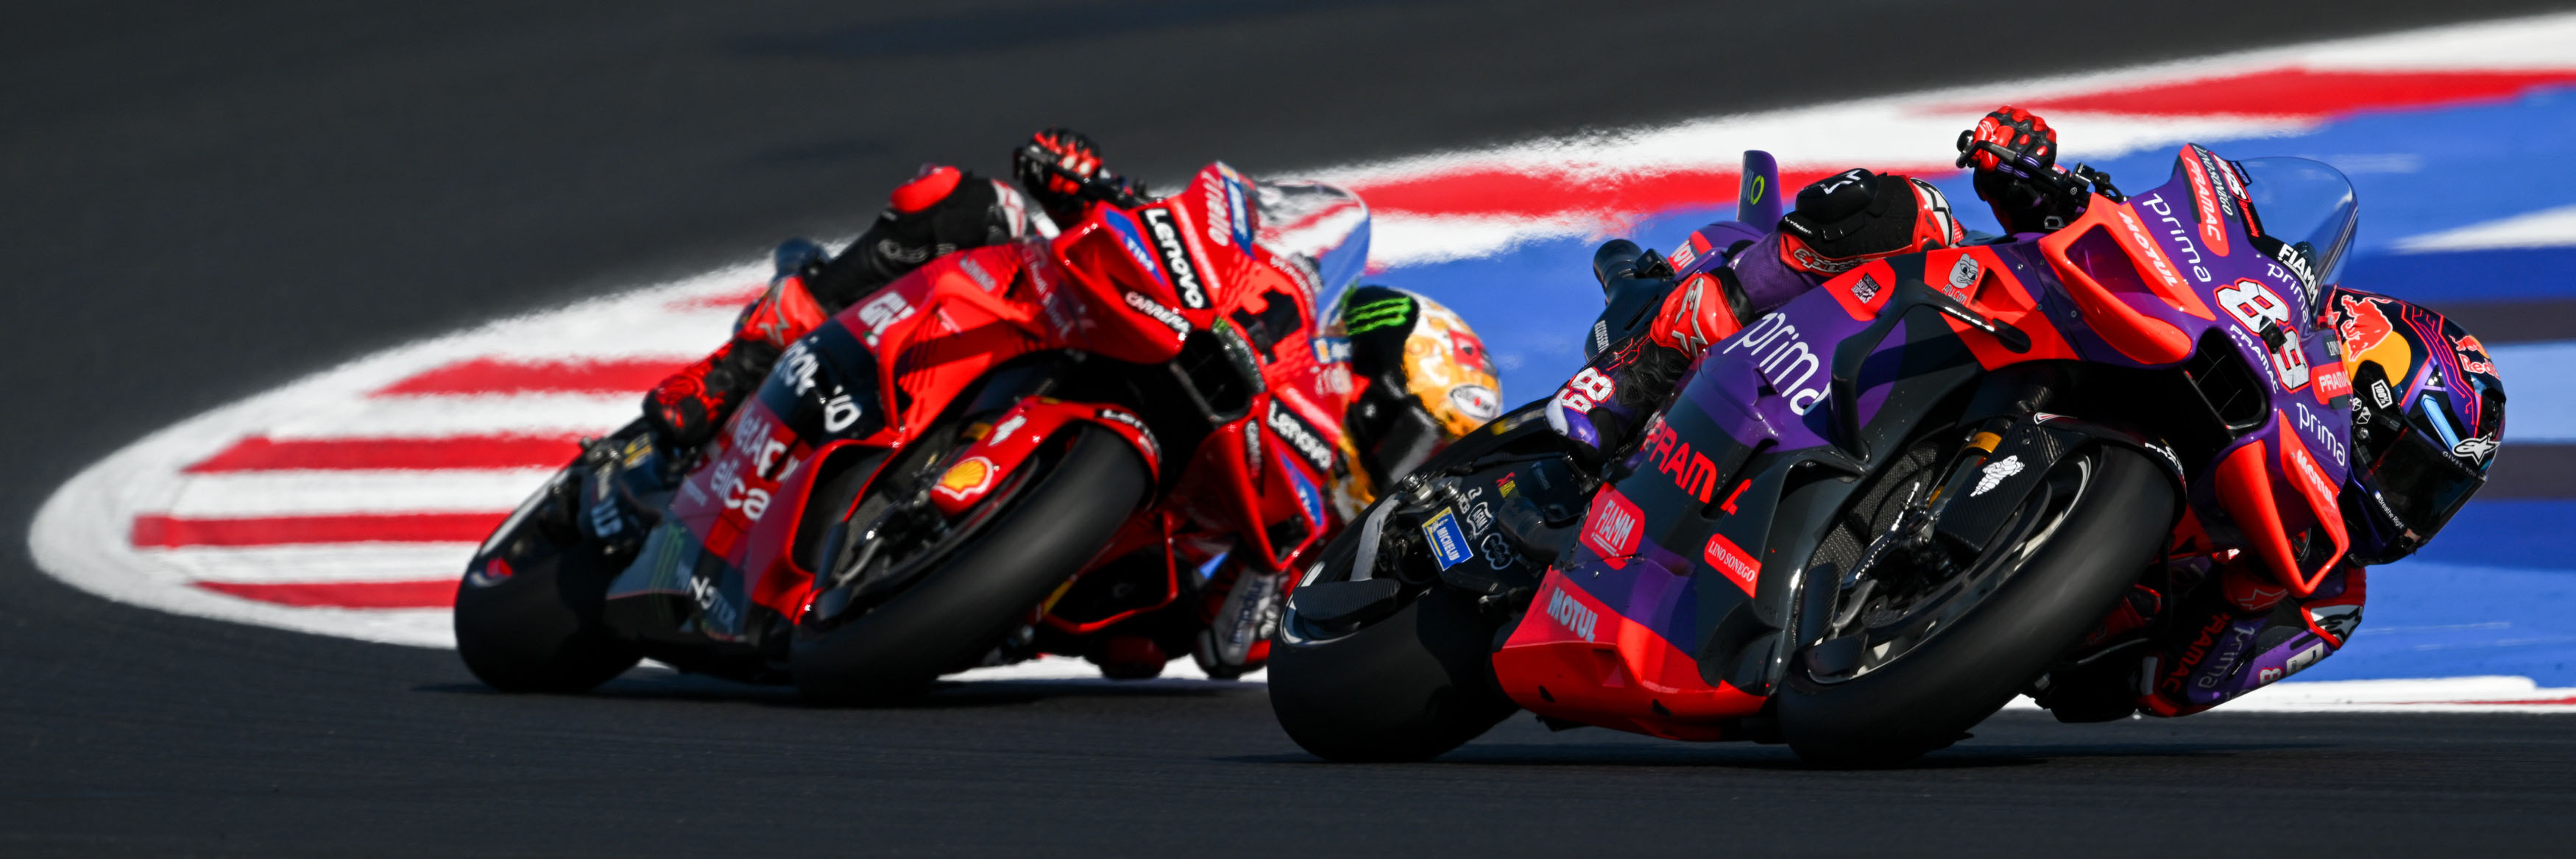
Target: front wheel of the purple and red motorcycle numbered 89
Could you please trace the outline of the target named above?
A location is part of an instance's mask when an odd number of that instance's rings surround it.
[[[1790,661],[1780,733],[1801,759],[1832,766],[1886,766],[1950,746],[2138,581],[2174,504],[2172,478],[2138,450],[2069,455],[1976,568],[1932,586],[1847,594],[1837,617],[1852,625]]]

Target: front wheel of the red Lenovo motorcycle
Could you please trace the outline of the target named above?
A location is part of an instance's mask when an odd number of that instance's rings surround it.
[[[896,458],[827,538],[827,574],[791,651],[806,700],[884,702],[974,666],[1079,574],[1154,486],[1126,440],[1072,424],[984,502],[945,520],[927,507],[938,460]]]

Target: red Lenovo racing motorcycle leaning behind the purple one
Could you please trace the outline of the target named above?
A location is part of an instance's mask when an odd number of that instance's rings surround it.
[[[1211,165],[933,260],[793,342],[703,450],[641,422],[587,445],[474,553],[459,651],[513,692],[657,658],[871,702],[1110,643],[1154,643],[1151,676],[1208,576],[1334,530],[1350,373],[1311,337],[1365,257],[1355,195]]]

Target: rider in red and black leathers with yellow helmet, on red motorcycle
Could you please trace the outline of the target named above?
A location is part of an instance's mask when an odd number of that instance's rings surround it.
[[[1012,172],[1025,193],[1005,180],[925,165],[894,188],[886,211],[840,255],[824,255],[804,239],[781,244],[781,270],[799,275],[773,280],[734,319],[729,342],[644,396],[644,424],[654,445],[703,445],[760,388],[788,345],[922,262],[1023,237],[1054,237],[1059,221],[1079,221],[1097,201],[1123,208],[1146,203],[1144,185],[1108,172],[1100,149],[1066,129],[1030,136],[1012,152]],[[1324,309],[1316,311],[1324,316]],[[1334,507],[1347,512],[1368,504],[1373,481],[1401,476],[1437,445],[1499,414],[1499,381],[1466,321],[1437,301],[1358,285],[1332,311],[1332,319],[1319,319],[1316,334],[1347,352],[1352,375],[1342,458],[1358,468],[1332,486]],[[1430,427],[1432,437],[1419,437],[1419,427]],[[1280,579],[1236,566],[1211,574],[1195,597],[1206,625],[1193,653],[1200,669],[1239,676],[1267,658],[1267,625],[1285,602]],[[1146,635],[1113,635],[1097,640],[1087,658],[1108,676],[1133,679],[1159,674],[1170,653]]]

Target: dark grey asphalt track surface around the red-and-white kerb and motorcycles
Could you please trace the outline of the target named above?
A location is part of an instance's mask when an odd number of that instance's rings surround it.
[[[850,234],[1072,123],[1252,172],[2473,21],[2545,3],[82,3],[0,10],[0,520],[180,417],[507,311]],[[1703,36],[1695,36],[1703,33]],[[1257,687],[917,707],[108,604],[0,558],[0,854],[2241,854],[2576,844],[2527,715],[2007,715],[1899,772],[1515,718],[1319,764]]]

